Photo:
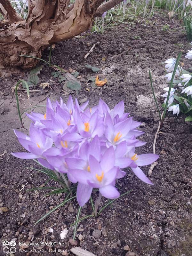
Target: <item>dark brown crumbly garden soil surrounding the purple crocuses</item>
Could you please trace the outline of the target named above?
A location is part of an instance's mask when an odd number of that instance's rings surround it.
[[[163,30],[166,24],[170,25],[168,31]],[[140,129],[145,131],[145,134],[140,139],[148,143],[140,148],[138,153],[152,153],[158,126],[158,114],[152,99],[148,69],[152,70],[156,95],[162,103],[159,95],[166,87],[166,81],[161,62],[176,57],[180,51],[186,53],[190,48],[185,34],[178,31],[178,27],[180,24],[176,20],[156,15],[145,22],[136,20],[135,24],[115,26],[105,31],[104,35],[87,33],[83,37],[61,42],[52,52],[52,63],[66,69],[76,69],[82,76],[82,90],[78,94],[72,94],[73,98],[80,100],[86,97],[90,100],[89,106],[94,106],[99,98],[102,98],[110,107],[124,100],[125,110],[131,112],[136,120],[143,122]],[[87,45],[89,42],[95,43],[96,47],[87,60],[84,60],[84,55],[91,48],[91,45]],[[184,68],[188,69],[191,64],[184,60],[184,56],[183,54]],[[44,58],[47,57],[48,51],[44,53]],[[106,61],[102,60],[103,57],[106,57]],[[93,73],[84,68],[85,63],[102,70],[111,66],[116,69],[102,76],[108,78],[107,85],[92,90],[87,84],[87,78]],[[44,105],[48,96],[51,99],[59,99],[61,96],[67,100],[68,95],[62,95],[62,85],[51,77],[52,71],[44,66],[40,82],[55,80],[51,85],[53,90],[31,93],[29,100],[26,93],[20,92],[21,112],[37,104]],[[26,75],[27,73],[23,72],[12,78],[1,79],[0,207],[7,207],[8,211],[0,214],[0,255],[5,255],[2,250],[3,241],[11,241],[12,238],[17,238],[15,255],[61,255],[60,252],[45,252],[48,246],[42,247],[44,252],[19,252],[19,242],[32,241],[33,237],[29,237],[30,231],[33,232],[34,243],[64,242],[65,245],[52,248],[67,249],[63,255],[72,255],[69,250],[73,245],[68,240],[72,237],[73,229],[69,226],[76,218],[76,201],[72,202],[74,212],[69,212],[67,205],[34,225],[50,207],[62,202],[64,195],[45,197],[46,192],[42,190],[38,193],[26,192],[26,189],[44,184],[47,177],[25,168],[38,167],[33,161],[16,159],[10,155],[12,151],[23,150],[12,129],[28,132],[29,121],[26,117],[23,118],[25,129],[20,128],[16,100],[11,89],[16,81],[26,78]],[[90,88],[90,92],[85,88]],[[38,110],[42,111],[41,108]],[[81,231],[77,232],[77,237],[79,234],[84,237],[81,241],[77,238],[78,245],[82,248],[95,255],[105,256],[124,256],[127,252],[125,249],[128,248],[139,256],[192,255],[192,126],[184,122],[184,116],[181,114],[176,117],[168,113],[160,131],[156,143],[156,152],[160,154],[160,158],[151,176],[155,185],[149,186],[141,182],[127,170],[129,175],[119,180],[118,186],[121,193],[129,189],[132,189],[132,192],[117,200],[113,207],[108,207],[99,218],[84,220],[78,225]],[[149,166],[144,167],[146,173],[148,169]],[[21,190],[23,185],[25,188]],[[57,184],[51,181],[48,185]],[[103,199],[101,204],[104,205],[105,202]],[[83,214],[92,214],[90,203],[82,210],[81,216],[84,216]],[[105,226],[106,236],[101,235],[98,239],[93,239],[93,230]],[[49,232],[51,227],[53,233]],[[63,228],[68,229],[68,235],[65,240],[60,240]],[[125,245],[129,247],[126,248]],[[40,250],[40,246],[30,246],[27,249],[37,247]]]

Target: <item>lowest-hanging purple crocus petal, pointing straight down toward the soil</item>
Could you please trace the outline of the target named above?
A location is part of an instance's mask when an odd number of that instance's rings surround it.
[[[84,204],[87,203],[89,200],[91,193],[92,193],[92,187],[89,185],[78,183],[77,185],[77,201],[80,206],[84,206]]]

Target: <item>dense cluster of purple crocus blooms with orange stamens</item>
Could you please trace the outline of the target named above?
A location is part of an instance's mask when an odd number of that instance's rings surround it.
[[[65,104],[47,99],[46,113],[32,112],[29,136],[15,130],[20,144],[28,151],[12,153],[22,159],[37,159],[44,167],[61,174],[77,184],[77,201],[83,206],[92,189],[109,198],[117,198],[116,179],[124,177],[122,169],[130,167],[142,181],[153,184],[139,166],[153,163],[155,154],[135,153],[145,144],[138,139],[143,132],[129,113],[124,113],[124,102],[113,109],[99,100],[88,108],[88,101],[79,105],[69,97]]]

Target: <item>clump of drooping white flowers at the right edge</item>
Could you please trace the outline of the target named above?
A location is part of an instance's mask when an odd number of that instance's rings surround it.
[[[192,59],[192,50],[188,51],[185,58]],[[176,59],[171,58],[164,61],[164,63],[166,63],[166,71],[171,71],[171,73],[165,75],[165,77],[167,77],[168,82],[170,82],[172,78],[172,72],[175,67]],[[177,116],[179,115],[180,111],[191,116],[192,73],[188,72],[187,70],[181,68],[180,65],[178,65],[175,76],[177,76],[177,80],[173,81],[174,88],[171,88],[168,101],[168,111],[173,111],[173,114],[177,114]],[[165,98],[165,103],[167,100],[169,87],[164,88],[164,90],[166,92],[161,96]],[[192,121],[192,118],[190,119],[188,118],[186,120]]]

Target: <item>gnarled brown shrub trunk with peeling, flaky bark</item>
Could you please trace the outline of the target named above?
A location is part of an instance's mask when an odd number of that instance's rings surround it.
[[[17,67],[30,69],[38,60],[18,55],[41,58],[50,44],[72,38],[86,31],[92,18],[102,15],[122,0],[28,0],[28,17],[23,20],[9,0],[0,0],[0,74]]]

